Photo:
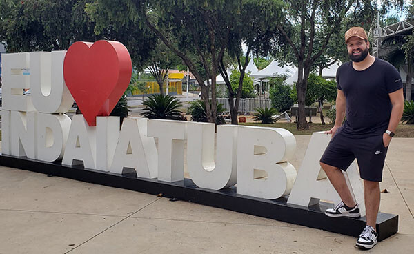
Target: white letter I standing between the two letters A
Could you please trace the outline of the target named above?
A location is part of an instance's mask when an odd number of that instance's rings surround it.
[[[119,138],[120,117],[97,117],[97,170],[109,171]]]

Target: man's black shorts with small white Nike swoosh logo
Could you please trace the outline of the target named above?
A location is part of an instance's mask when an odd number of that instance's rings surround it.
[[[357,138],[338,130],[320,161],[345,171],[356,158],[362,179],[381,182],[387,150],[382,135]]]

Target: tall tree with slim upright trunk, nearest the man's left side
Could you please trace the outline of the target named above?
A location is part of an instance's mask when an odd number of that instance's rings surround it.
[[[339,33],[346,13],[354,4],[353,12],[371,7],[368,0],[342,1],[296,1],[286,0],[286,19],[277,26],[277,50],[287,62],[298,68],[296,90],[299,104],[298,129],[308,129],[304,102],[308,76],[315,68],[315,61],[324,54],[331,37]],[[319,41],[319,46],[317,46]]]

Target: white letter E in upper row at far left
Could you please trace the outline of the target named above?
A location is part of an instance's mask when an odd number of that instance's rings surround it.
[[[29,89],[29,53],[2,54],[3,110],[35,111],[30,96],[23,96]]]

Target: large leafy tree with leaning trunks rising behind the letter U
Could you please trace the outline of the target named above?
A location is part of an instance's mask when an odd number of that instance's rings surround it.
[[[282,9],[279,0],[96,0],[88,6],[88,13],[97,22],[97,30],[128,22],[140,23],[152,30],[197,79],[210,122],[215,122],[217,116],[215,79],[220,72],[229,90],[232,123],[237,124],[244,71],[249,60],[246,57],[242,63],[240,59],[242,42],[248,46],[246,55],[253,50],[269,50],[266,31],[275,26]],[[259,45],[264,46],[256,47]],[[237,93],[231,87],[224,64],[226,52],[237,59],[241,73]],[[199,66],[203,67],[204,74],[199,72]]]

